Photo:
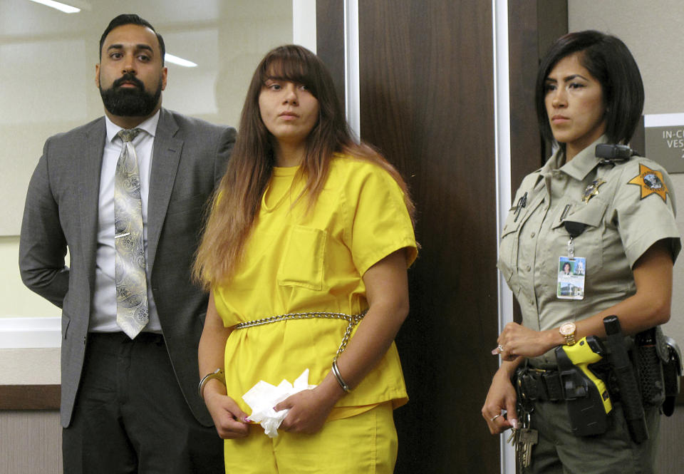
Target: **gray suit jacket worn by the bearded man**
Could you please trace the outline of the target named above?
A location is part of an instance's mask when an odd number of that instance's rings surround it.
[[[95,286],[105,120],[49,138],[28,185],[19,244],[27,287],[62,308],[61,422],[71,422]],[[212,423],[197,396],[197,346],[207,294],[190,282],[204,206],[222,177],[235,130],[162,108],[147,209],[147,266],[177,381],[197,420]],[[71,264],[65,265],[69,249]]]

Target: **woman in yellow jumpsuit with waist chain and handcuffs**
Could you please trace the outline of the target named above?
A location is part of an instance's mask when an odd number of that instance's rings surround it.
[[[392,473],[392,411],[407,400],[393,339],[416,256],[405,183],[354,143],[330,75],[300,46],[266,54],[239,130],[196,266],[211,289],[199,370],[225,372],[202,395],[226,470]],[[316,387],[274,407],[289,412],[271,439],[242,395],[304,369]]]

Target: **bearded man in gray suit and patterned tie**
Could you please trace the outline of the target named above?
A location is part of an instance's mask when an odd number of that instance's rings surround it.
[[[197,395],[207,294],[190,267],[235,130],[161,108],[164,53],[147,21],[113,19],[95,66],[105,117],[49,138],[28,187],[19,266],[63,309],[67,474],[223,472],[222,440]],[[121,172],[131,174],[119,181]],[[120,227],[120,183],[140,232]],[[115,237],[132,246],[140,294],[120,279]]]

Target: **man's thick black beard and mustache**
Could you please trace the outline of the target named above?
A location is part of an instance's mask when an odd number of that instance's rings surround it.
[[[135,88],[121,88],[123,82],[132,82]],[[119,117],[145,117],[150,115],[159,103],[162,96],[162,78],[159,78],[157,91],[149,93],[145,91],[145,84],[130,73],[118,78],[108,89],[100,86],[100,96],[105,108],[112,115]]]

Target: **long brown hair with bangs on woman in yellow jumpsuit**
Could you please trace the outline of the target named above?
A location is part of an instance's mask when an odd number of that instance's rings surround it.
[[[304,85],[318,100],[318,123],[306,138],[306,153],[299,168],[299,175],[306,177],[301,195],[309,198],[309,205],[315,204],[323,189],[333,154],[342,153],[376,163],[390,173],[404,192],[411,220],[415,214],[406,183],[397,170],[373,148],[353,140],[323,62],[301,46],[279,46],[266,53],[254,71],[242,108],[237,141],[226,174],[214,193],[211,213],[197,249],[193,276],[207,289],[227,282],[235,271],[259,213],[261,195],[271,179],[275,138],[259,113],[259,94],[268,79]]]

